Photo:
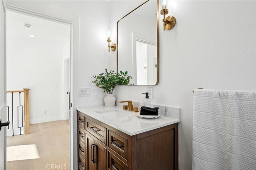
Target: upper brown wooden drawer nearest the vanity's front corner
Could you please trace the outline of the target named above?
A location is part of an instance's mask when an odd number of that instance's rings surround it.
[[[127,160],[127,138],[108,130],[108,147]]]

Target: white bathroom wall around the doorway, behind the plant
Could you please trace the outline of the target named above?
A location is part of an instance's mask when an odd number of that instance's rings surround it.
[[[72,169],[77,169],[77,119],[76,108],[90,105],[102,105],[105,94],[102,89],[91,83],[92,75],[101,73],[108,68],[109,53],[107,47],[107,24],[109,24],[109,2],[99,1],[13,1],[7,4],[15,5],[43,14],[64,18],[73,22],[73,59],[71,73],[73,87],[71,89],[73,103],[73,140],[74,162]],[[97,9],[97,10],[95,10]],[[95,12],[97,11],[97,12]],[[100,23],[100,25],[99,25]],[[105,27],[106,26],[106,27]],[[79,87],[91,88],[90,97],[78,97]]]

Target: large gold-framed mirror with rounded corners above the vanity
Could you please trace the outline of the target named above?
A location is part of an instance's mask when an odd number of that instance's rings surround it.
[[[131,85],[158,84],[158,5],[146,0],[117,22],[117,72],[128,71]]]

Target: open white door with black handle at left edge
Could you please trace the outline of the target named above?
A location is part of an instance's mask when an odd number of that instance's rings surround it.
[[[0,119],[6,122],[6,6],[0,2]],[[6,127],[0,130],[0,170],[6,169]]]

